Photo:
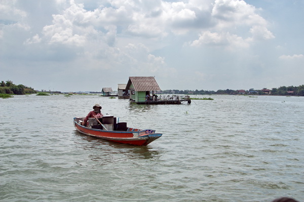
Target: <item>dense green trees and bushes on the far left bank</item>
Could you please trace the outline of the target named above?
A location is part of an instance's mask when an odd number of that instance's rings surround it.
[[[7,80],[6,82],[1,81],[0,93],[3,94],[32,94],[37,93],[33,88],[25,85],[15,85],[12,81]]]

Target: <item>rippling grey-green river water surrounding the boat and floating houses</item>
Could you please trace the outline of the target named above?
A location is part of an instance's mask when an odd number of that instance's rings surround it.
[[[161,106],[97,95],[0,99],[0,200],[304,201],[304,97],[210,97]],[[72,118],[95,103],[163,136],[141,147],[82,135]]]

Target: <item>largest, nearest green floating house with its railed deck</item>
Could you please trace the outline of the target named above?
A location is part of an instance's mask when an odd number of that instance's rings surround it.
[[[181,104],[182,102],[191,103],[191,99],[188,95],[158,95],[157,91],[160,91],[158,83],[155,77],[129,77],[129,81],[126,86],[126,90],[129,90],[129,100],[131,103],[142,105],[164,105],[164,104]]]

